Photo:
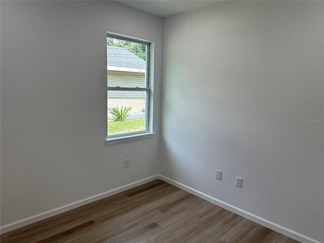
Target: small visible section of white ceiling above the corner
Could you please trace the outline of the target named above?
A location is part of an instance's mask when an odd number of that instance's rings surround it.
[[[216,0],[119,0],[117,3],[130,6],[144,12],[160,17],[188,12],[194,9],[208,7],[215,4]]]

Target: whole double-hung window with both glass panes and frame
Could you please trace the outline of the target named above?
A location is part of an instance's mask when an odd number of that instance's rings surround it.
[[[107,34],[107,140],[149,132],[150,43]]]

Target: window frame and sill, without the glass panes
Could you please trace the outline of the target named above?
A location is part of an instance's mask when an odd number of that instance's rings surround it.
[[[150,107],[149,107],[150,106],[150,93],[151,93],[151,89],[150,89],[150,86],[151,86],[151,80],[150,80],[151,43],[139,41],[138,39],[135,39],[132,37],[120,36],[120,35],[112,34],[112,33],[108,33],[108,32],[107,32],[107,37],[121,39],[122,41],[129,41],[129,42],[146,45],[146,71],[145,71],[146,86],[145,86],[145,88],[109,87],[108,83],[107,83],[107,93],[108,93],[108,91],[144,91],[144,92],[146,92],[146,98],[145,98],[145,129],[143,131],[108,135],[108,128],[107,128],[106,145],[153,137],[154,133],[150,130],[151,126],[150,126]],[[107,95],[107,99],[108,99],[108,95]],[[107,109],[108,109],[108,107],[107,107]],[[107,117],[108,117],[108,111],[107,111]],[[108,120],[107,120],[107,122],[108,122]]]

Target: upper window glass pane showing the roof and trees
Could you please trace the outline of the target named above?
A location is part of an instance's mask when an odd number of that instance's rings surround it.
[[[147,46],[107,37],[109,87],[146,88]]]

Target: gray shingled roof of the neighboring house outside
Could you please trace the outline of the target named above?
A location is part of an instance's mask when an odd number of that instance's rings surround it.
[[[107,66],[146,69],[146,62],[123,47],[107,46]]]

